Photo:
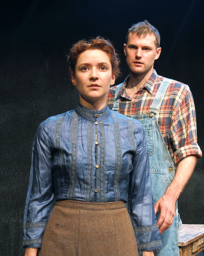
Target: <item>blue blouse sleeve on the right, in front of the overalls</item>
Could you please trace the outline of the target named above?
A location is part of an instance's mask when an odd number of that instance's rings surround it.
[[[134,131],[136,149],[130,176],[128,207],[139,252],[161,248],[152,198],[150,166],[145,131],[137,124]]]

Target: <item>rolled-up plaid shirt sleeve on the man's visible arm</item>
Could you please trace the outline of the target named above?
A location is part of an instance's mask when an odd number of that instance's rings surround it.
[[[170,138],[175,166],[187,156],[202,156],[197,143],[197,125],[193,96],[187,85],[182,85],[179,100],[175,100]],[[178,96],[179,97],[179,96]],[[179,104],[178,104],[179,103]],[[178,104],[178,105],[177,105]]]

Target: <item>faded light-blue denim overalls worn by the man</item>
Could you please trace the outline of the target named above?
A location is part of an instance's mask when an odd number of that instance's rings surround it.
[[[146,132],[154,204],[164,195],[175,174],[174,164],[162,137],[162,133],[160,132],[157,120],[157,112],[171,81],[172,80],[166,78],[163,80],[157,94],[155,95],[152,105],[150,106],[148,114],[129,116],[139,120]],[[118,95],[118,93],[122,88],[122,85],[123,83],[117,86],[112,109],[117,112],[119,111],[120,99],[120,95]],[[157,220],[159,213],[160,211],[156,214]],[[179,256],[178,239],[180,222],[176,201],[173,224],[169,229],[161,234],[162,244],[164,247],[162,249],[154,250],[155,256]]]

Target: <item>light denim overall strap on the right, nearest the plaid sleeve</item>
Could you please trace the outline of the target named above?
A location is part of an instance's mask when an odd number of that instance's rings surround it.
[[[162,100],[164,98],[164,95],[169,87],[169,84],[172,82],[173,80],[168,79],[168,78],[164,78],[164,80],[162,81],[155,97],[154,100],[152,102],[152,105],[150,106],[150,113],[154,113],[157,114],[160,105],[162,104]]]

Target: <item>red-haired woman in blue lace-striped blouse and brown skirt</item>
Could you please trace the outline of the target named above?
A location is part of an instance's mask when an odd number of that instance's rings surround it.
[[[79,41],[69,63],[80,104],[48,118],[36,133],[24,213],[25,255],[133,256],[138,249],[154,255],[161,241],[145,132],[137,120],[106,105],[119,74],[115,49],[99,37]]]

